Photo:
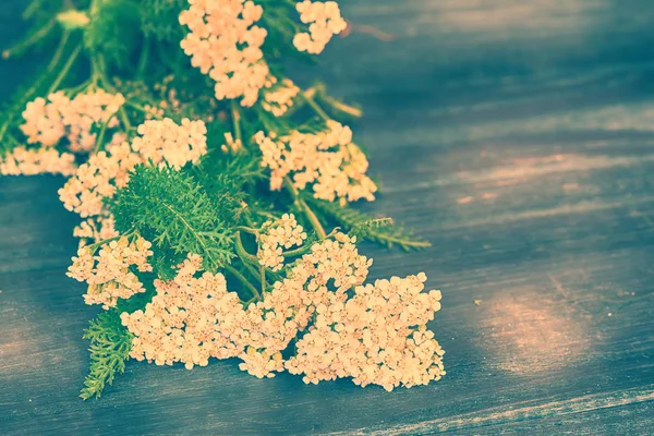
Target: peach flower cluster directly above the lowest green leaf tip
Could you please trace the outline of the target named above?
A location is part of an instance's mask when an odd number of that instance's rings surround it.
[[[143,283],[130,270],[134,266],[141,272],[152,271],[147,258],[152,244],[141,237],[130,241],[126,237],[111,241],[95,254],[93,246],[83,246],[73,257],[68,276],[88,283],[84,295],[86,304],[101,304],[104,308],[116,306],[118,299],[129,299],[144,292]]]

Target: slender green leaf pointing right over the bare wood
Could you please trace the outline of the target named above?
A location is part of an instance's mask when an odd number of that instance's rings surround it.
[[[375,219],[362,214],[350,206],[341,206],[338,203],[329,203],[322,199],[307,197],[306,201],[315,206],[320,215],[352,231],[368,241],[376,242],[389,249],[399,246],[404,251],[426,249],[432,244],[415,238],[400,226],[393,225],[389,218]]]

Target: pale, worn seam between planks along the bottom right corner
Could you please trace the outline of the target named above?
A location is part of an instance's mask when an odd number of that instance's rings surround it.
[[[414,424],[402,424],[384,429],[359,428],[354,432],[337,432],[329,435],[425,435],[451,431],[486,427],[489,425],[513,423],[520,421],[541,420],[544,417],[565,416],[595,410],[619,408],[654,401],[654,385],[644,388],[625,389],[613,392],[594,393],[562,401],[550,401],[540,405],[525,405],[507,410],[507,407],[486,409],[480,412],[447,416],[438,420],[423,421]],[[516,404],[519,405],[520,403]],[[524,404],[524,402],[523,402]]]

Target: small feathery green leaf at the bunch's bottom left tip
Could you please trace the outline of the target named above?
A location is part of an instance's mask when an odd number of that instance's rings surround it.
[[[106,385],[113,383],[117,373],[124,373],[130,355],[132,334],[121,324],[116,310],[100,313],[84,330],[90,340],[90,365],[80,397],[84,400],[99,398]]]

